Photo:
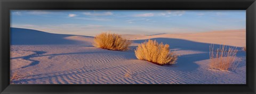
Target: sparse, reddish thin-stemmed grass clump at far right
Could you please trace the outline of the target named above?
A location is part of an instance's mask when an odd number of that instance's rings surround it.
[[[235,70],[239,62],[236,61],[236,54],[238,50],[236,47],[227,49],[227,46],[222,45],[220,48],[214,50],[214,45],[210,46],[210,69]]]

